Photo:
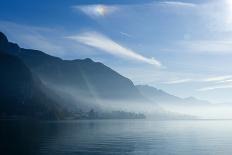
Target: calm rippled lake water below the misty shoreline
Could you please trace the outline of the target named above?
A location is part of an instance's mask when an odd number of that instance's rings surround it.
[[[0,123],[1,155],[232,154],[232,121]]]

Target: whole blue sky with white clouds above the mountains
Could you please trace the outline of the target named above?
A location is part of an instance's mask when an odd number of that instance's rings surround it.
[[[232,102],[232,0],[1,0],[0,10],[0,31],[21,47]]]

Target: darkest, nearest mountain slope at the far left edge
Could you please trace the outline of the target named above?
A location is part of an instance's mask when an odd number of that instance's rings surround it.
[[[1,117],[61,117],[62,108],[42,91],[39,79],[19,58],[0,51],[0,74]]]

